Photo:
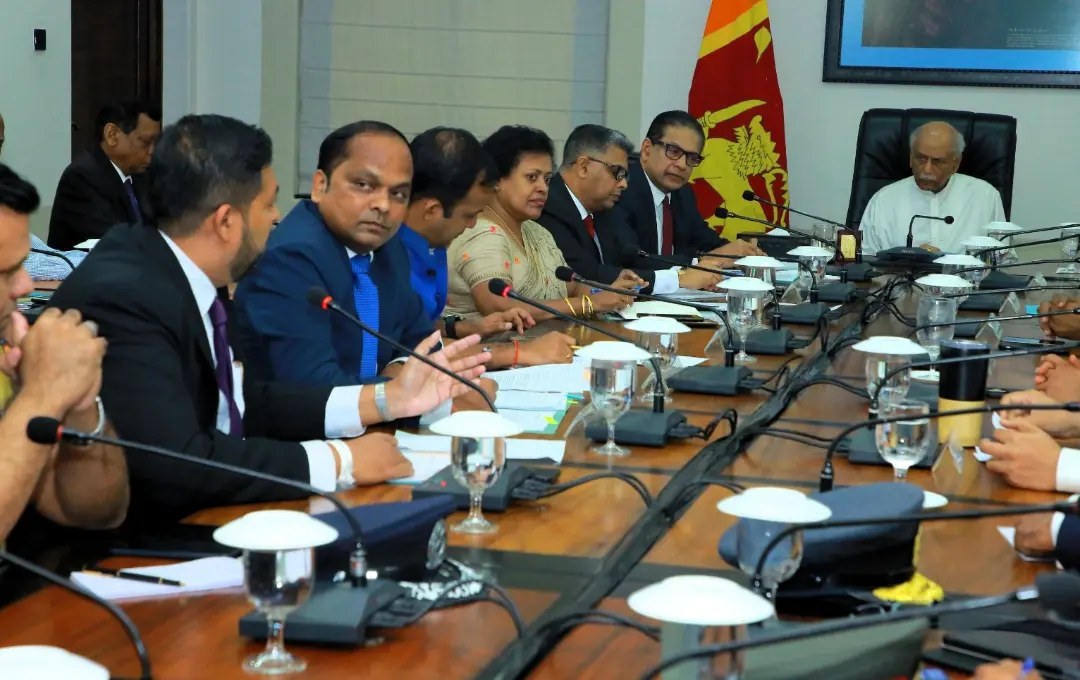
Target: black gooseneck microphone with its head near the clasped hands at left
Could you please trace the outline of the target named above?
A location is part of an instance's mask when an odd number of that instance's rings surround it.
[[[241,467],[239,465],[230,465],[229,463],[222,463],[220,461],[198,458],[187,453],[180,453],[179,451],[172,451],[151,444],[143,444],[140,441],[132,441],[130,439],[119,439],[107,435],[95,435],[89,432],[69,430],[60,424],[60,422],[55,418],[31,418],[26,424],[26,436],[35,444],[58,444],[63,440],[76,446],[86,446],[91,441],[97,441],[100,444],[117,446],[122,449],[146,451],[147,453],[153,453],[154,455],[161,455],[162,458],[167,458],[174,461],[192,463],[194,465],[211,467],[213,470],[221,470],[242,477],[251,477],[253,479],[269,481],[282,487],[297,489],[299,491],[303,491],[308,495],[324,498],[329,501],[342,515],[345,515],[346,520],[349,522],[349,528],[352,530],[353,538],[356,541],[356,547],[353,549],[352,555],[349,556],[349,575],[352,577],[353,584],[365,585],[367,582],[367,550],[364,548],[364,530],[360,526],[360,520],[356,519],[355,515],[349,512],[349,507],[336,495],[327,493],[326,491],[320,491],[310,484],[305,484],[296,479],[288,479],[287,477],[279,477],[278,475],[271,475],[257,470]]]

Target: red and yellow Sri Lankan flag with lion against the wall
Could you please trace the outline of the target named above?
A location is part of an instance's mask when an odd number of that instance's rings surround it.
[[[732,239],[764,227],[744,220],[725,223],[717,207],[778,225],[787,210],[746,201],[747,189],[787,205],[784,103],[777,83],[767,0],[713,0],[690,85],[690,114],[705,130],[705,160],[691,186],[701,214]]]

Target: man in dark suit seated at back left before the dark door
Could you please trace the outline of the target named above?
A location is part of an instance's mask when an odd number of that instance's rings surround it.
[[[106,106],[97,114],[99,144],[64,169],[49,220],[49,245],[70,250],[100,239],[113,225],[150,221],[143,172],[161,134],[161,113],[137,101]]]

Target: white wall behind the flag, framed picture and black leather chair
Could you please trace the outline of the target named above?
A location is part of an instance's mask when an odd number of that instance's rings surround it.
[[[710,0],[645,3],[647,15],[664,19],[664,30],[646,31],[642,131],[656,112],[686,107]],[[784,97],[793,206],[843,219],[863,111],[921,107],[1016,117],[1020,141],[1013,221],[1036,228],[1080,219],[1076,167],[1080,135],[1075,132],[1080,92],[823,83],[824,0],[771,0],[769,9]],[[627,51],[632,49],[626,45]],[[795,219],[798,225],[801,218]]]

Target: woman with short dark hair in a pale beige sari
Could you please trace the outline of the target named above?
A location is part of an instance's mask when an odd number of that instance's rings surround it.
[[[519,294],[572,316],[592,316],[626,307],[630,298],[613,293],[591,294],[581,284],[555,278],[566,259],[546,229],[536,222],[548,201],[555,155],[551,138],[524,125],[505,125],[484,140],[498,176],[495,196],[476,226],[454,240],[447,251],[450,287],[447,311],[473,318],[518,304],[488,290],[492,278],[507,281]],[[621,282],[621,286],[633,282]],[[537,321],[551,314],[529,310]]]

